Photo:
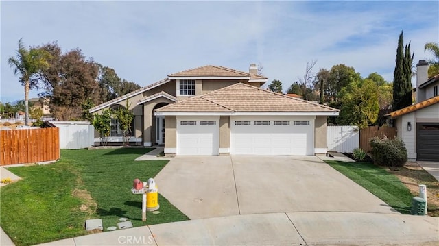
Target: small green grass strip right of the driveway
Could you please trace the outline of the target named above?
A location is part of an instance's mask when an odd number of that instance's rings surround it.
[[[413,195],[392,173],[369,162],[325,162],[401,214],[410,214]]]

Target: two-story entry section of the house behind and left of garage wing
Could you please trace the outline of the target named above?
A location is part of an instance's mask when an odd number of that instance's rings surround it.
[[[250,65],[249,73],[223,66],[201,66],[168,75],[159,82],[95,106],[90,112],[99,114],[104,109],[124,107],[128,100],[129,109],[134,112],[130,145],[163,145],[165,117],[155,116],[154,110],[232,84],[244,83],[259,88],[265,82],[266,77],[257,75],[256,64]],[[122,142],[122,132],[117,119],[112,119],[108,142],[108,145],[120,145]],[[99,144],[99,134],[95,134],[95,144]]]

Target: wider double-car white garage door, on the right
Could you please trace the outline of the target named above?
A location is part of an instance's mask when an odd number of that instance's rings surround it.
[[[230,131],[232,154],[314,154],[314,119],[230,117]]]

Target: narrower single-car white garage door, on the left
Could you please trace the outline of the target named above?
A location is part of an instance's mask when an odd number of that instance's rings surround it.
[[[178,155],[218,155],[219,118],[177,118]]]

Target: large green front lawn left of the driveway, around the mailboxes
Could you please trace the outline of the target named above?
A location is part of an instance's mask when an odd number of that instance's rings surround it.
[[[23,180],[0,189],[1,227],[16,245],[34,245],[87,234],[86,219],[102,219],[104,230],[120,217],[134,227],[187,220],[159,195],[160,213],[141,221],[142,195],[131,193],[132,180],[146,181],[167,164],[134,161],[150,150],[62,150],[54,164],[11,167]]]

